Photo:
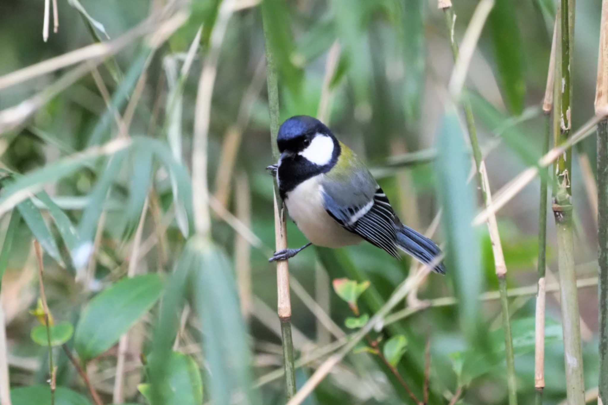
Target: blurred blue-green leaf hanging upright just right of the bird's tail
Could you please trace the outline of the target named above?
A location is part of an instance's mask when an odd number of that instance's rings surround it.
[[[483,336],[477,296],[482,290],[479,243],[471,222],[474,193],[468,185],[471,162],[454,106],[447,106],[437,139],[437,173],[447,239],[446,264],[454,279],[460,325],[471,344]]]

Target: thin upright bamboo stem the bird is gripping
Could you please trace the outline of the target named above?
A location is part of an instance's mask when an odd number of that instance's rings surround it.
[[[271,148],[272,155],[275,160],[278,160],[278,78],[268,29],[269,12],[272,12],[272,10],[269,10],[268,6],[264,7],[263,5],[262,27],[264,32],[264,43],[266,46],[266,83],[268,84]],[[287,248],[287,225],[285,222],[285,208],[283,208],[283,201],[278,198],[276,182],[273,200],[275,248],[278,251]],[[291,337],[291,301],[289,298],[289,265],[287,260],[277,261],[277,313],[281,322],[286,395],[288,399],[291,399],[295,396],[295,367],[294,342]]]

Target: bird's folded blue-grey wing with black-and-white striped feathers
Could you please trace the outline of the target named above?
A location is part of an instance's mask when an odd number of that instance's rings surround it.
[[[371,174],[351,176],[340,182],[326,177],[321,185],[323,206],[337,223],[399,257],[395,243],[395,213]]]

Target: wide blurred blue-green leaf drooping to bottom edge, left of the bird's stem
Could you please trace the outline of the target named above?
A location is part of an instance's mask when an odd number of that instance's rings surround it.
[[[195,260],[190,274],[194,307],[202,320],[202,349],[209,366],[210,400],[228,404],[236,393],[244,404],[257,404],[251,389],[247,331],[241,317],[233,270],[220,248],[195,236],[187,249]],[[218,308],[221,302],[221,308]]]

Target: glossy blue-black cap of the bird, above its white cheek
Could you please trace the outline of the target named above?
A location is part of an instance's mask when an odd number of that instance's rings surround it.
[[[317,118],[308,115],[295,115],[288,118],[278,129],[277,146],[278,151],[297,154],[313,142],[317,135],[325,135],[334,140],[334,135]]]

